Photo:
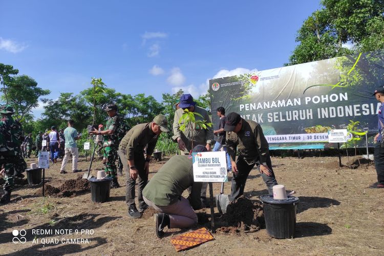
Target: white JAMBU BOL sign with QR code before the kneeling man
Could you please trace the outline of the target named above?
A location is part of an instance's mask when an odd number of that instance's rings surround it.
[[[224,151],[192,154],[194,181],[226,182],[227,162]]]

